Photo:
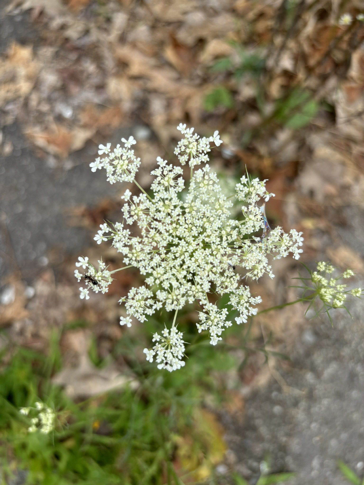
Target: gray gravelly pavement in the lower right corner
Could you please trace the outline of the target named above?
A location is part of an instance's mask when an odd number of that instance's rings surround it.
[[[364,281],[358,285],[363,287]],[[236,469],[255,484],[259,463],[270,456],[273,471],[295,471],[292,485],[345,485],[343,460],[364,476],[364,302],[314,319],[296,342],[292,369],[280,371],[284,392],[272,378],[247,400],[244,423],[227,420],[227,441]],[[299,392],[303,391],[303,392]]]

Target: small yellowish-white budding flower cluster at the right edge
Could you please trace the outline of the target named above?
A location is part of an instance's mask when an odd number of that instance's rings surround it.
[[[342,278],[350,278],[353,276],[354,273],[351,270],[347,269],[342,275],[333,278],[331,274],[334,270],[335,268],[331,264],[320,261],[317,263],[317,271],[314,271],[311,275],[311,280],[317,296],[326,307],[344,308],[347,295],[350,293],[352,296],[360,298],[362,290],[361,288],[353,288],[348,291],[346,284],[338,283]]]

